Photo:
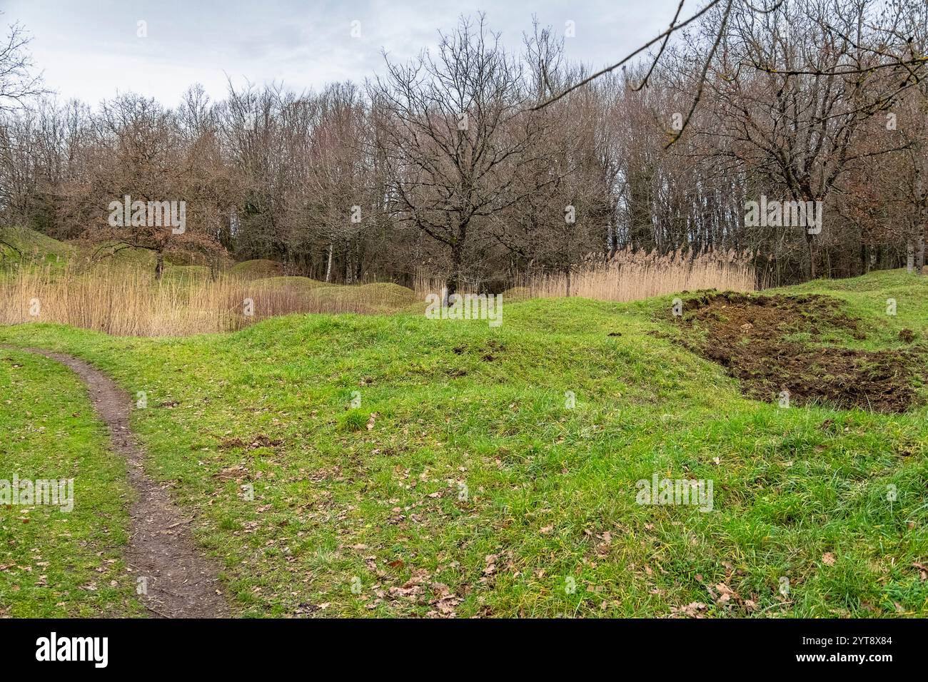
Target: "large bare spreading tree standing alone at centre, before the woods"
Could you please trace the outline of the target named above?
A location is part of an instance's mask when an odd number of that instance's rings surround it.
[[[387,65],[371,97],[383,112],[377,140],[388,208],[400,225],[444,245],[450,295],[468,277],[466,255],[486,238],[486,225],[555,181],[527,171],[550,156],[534,144],[550,121],[527,110],[533,99],[522,68],[483,15],[460,19],[437,55]]]

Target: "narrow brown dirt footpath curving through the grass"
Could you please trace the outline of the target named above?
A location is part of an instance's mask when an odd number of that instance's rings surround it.
[[[136,579],[144,578],[140,599],[162,618],[221,618],[229,615],[216,577],[217,566],[197,548],[187,522],[167,492],[142,466],[143,451],[129,430],[130,397],[102,372],[71,355],[39,348],[20,349],[45,355],[71,367],[84,380],[97,415],[110,428],[113,450],[125,457],[129,481],[138,497],[130,510],[132,528],[126,562]],[[104,614],[105,615],[105,614]]]

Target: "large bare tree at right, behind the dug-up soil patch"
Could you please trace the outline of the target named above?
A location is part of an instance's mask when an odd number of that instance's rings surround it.
[[[884,41],[892,33],[874,27],[874,17],[874,0],[797,0],[759,14],[731,12],[720,54],[695,85],[715,95],[701,133],[726,144],[712,156],[740,161],[789,199],[825,202],[852,164],[896,149],[864,150],[857,135],[926,69],[899,66],[904,56],[891,54]],[[804,234],[814,278],[816,236]]]

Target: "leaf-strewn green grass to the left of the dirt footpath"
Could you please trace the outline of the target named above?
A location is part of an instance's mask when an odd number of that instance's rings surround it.
[[[0,389],[0,479],[73,479],[71,511],[0,506],[0,615],[140,613],[122,560],[132,490],[80,380],[44,357],[0,349]]]

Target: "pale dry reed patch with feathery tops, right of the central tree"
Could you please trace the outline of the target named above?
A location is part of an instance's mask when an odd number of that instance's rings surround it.
[[[638,301],[683,290],[754,291],[754,265],[734,253],[706,253],[690,259],[620,251],[606,263],[587,264],[566,274],[522,279],[533,297],[580,296],[600,301]],[[568,291],[569,284],[569,291]]]

